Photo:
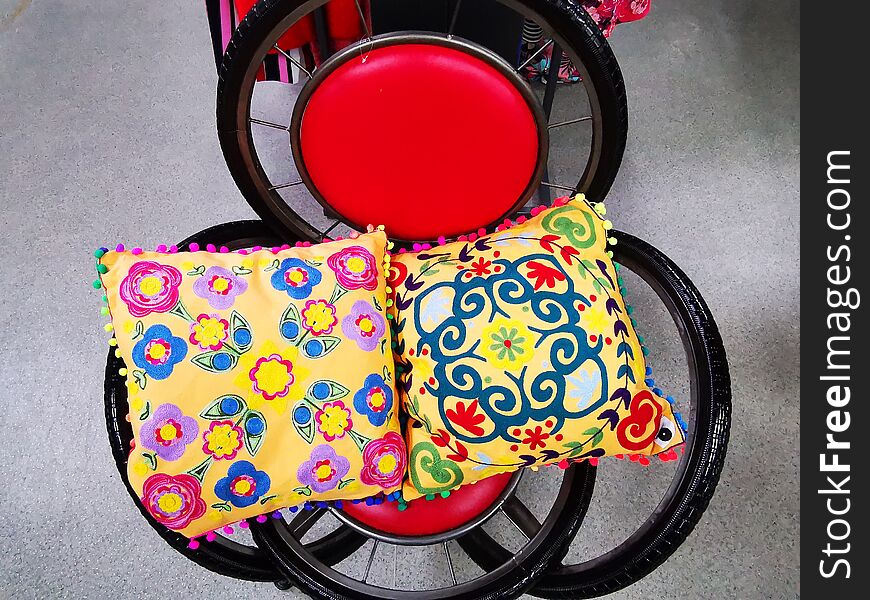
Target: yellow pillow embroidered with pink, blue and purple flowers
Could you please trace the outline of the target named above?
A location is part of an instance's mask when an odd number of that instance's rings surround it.
[[[194,537],[399,489],[386,244],[97,251],[136,407],[128,475],[157,521]]]

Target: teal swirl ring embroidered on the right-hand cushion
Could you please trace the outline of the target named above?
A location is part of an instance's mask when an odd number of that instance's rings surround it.
[[[527,263],[532,261],[561,271],[566,276],[567,289],[536,291],[533,283],[520,272],[521,268],[528,269]],[[513,262],[497,259],[494,264],[503,268],[489,277],[470,280],[460,272],[453,280],[428,287],[414,303],[420,347],[430,348],[437,382],[424,385],[437,398],[445,427],[457,439],[474,444],[496,438],[516,443],[519,440],[512,432],[530,421],[550,419],[554,422],[552,432],[557,433],[566,420],[591,414],[608,398],[606,366],[599,356],[603,341],[599,338],[590,345],[589,336],[579,325],[577,306],[579,303],[588,306],[590,301],[574,288],[563,265],[553,255],[545,253],[530,254]],[[450,299],[449,310],[434,323],[421,315],[421,307],[432,294]],[[481,325],[498,317],[516,318],[518,315],[528,315],[528,321],[535,323],[530,328],[535,362],[519,370],[505,371],[501,384],[489,384],[475,365],[480,361],[478,364],[482,367],[486,362],[481,352],[482,342],[472,339],[470,332],[480,331]],[[566,406],[567,378],[590,366],[601,375],[600,394],[582,409]],[[456,401],[468,404],[475,400],[494,429],[483,435],[469,436],[453,426],[446,409]]]

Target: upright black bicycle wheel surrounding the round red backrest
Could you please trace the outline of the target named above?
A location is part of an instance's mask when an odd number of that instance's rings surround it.
[[[581,73],[580,85],[586,90],[591,114],[550,122],[548,128],[591,123],[588,159],[578,168],[578,174],[570,176],[570,181],[563,184],[546,182],[544,185],[569,193],[582,192],[592,200],[603,199],[619,170],[628,124],[625,86],[613,52],[595,22],[575,0],[498,1],[541,25],[548,38],[546,45],[564,51],[571,58]],[[326,214],[320,211],[321,215],[318,215],[319,207],[315,202],[299,206],[294,204],[296,199],[291,202],[282,196],[288,188],[303,181],[290,182],[286,177],[281,181],[266,172],[253,129],[289,132],[291,124],[279,122],[284,117],[272,120],[254,118],[251,101],[257,73],[267,53],[294,23],[325,2],[260,0],[240,23],[227,47],[217,89],[218,137],[227,166],[242,195],[276,231],[290,232],[308,240],[321,239],[333,231],[341,223],[342,215],[332,219],[328,210]],[[458,10],[461,3],[453,5]],[[446,33],[444,36],[449,37]],[[365,40],[361,42],[360,48],[364,48],[366,43]],[[286,55],[282,50],[279,52]],[[543,103],[547,104],[546,98]],[[272,145],[276,143],[273,141]],[[284,147],[286,144],[286,140],[281,142]],[[572,152],[579,154],[576,148]],[[289,157],[289,152],[287,154]],[[285,163],[286,160],[282,164]],[[573,185],[574,181],[577,181],[576,185]],[[321,220],[323,224],[319,224]]]

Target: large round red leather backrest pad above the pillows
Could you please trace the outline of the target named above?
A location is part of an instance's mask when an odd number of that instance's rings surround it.
[[[500,221],[535,171],[534,115],[514,83],[468,53],[413,43],[354,56],[314,91],[302,160],[351,223],[433,240]]]

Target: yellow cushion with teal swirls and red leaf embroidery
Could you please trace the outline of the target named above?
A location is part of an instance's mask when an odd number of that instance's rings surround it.
[[[599,210],[602,210],[599,208]],[[582,196],[391,263],[405,500],[521,467],[682,442]]]

